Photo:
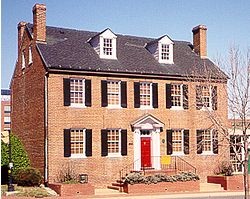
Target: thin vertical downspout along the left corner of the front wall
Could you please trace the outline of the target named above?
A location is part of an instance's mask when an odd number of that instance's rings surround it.
[[[45,121],[45,143],[44,143],[44,184],[48,186],[48,72],[44,76],[44,121]]]

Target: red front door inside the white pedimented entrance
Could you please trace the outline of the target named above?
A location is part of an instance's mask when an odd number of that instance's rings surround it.
[[[151,139],[141,138],[141,167],[151,167]]]

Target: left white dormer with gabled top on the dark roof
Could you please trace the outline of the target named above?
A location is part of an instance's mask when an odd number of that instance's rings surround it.
[[[117,36],[110,30],[105,29],[89,40],[91,46],[102,59],[117,59],[116,56]]]

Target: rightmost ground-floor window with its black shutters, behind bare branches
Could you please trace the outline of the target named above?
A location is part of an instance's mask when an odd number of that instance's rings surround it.
[[[197,153],[218,154],[218,132],[216,130],[197,130]]]

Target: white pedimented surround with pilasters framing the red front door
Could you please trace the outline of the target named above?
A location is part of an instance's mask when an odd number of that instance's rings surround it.
[[[134,170],[141,170],[141,137],[151,138],[151,163],[152,168],[161,169],[160,164],[160,132],[164,124],[150,114],[144,115],[135,122],[132,127],[134,129]],[[148,133],[144,134],[143,130]]]

